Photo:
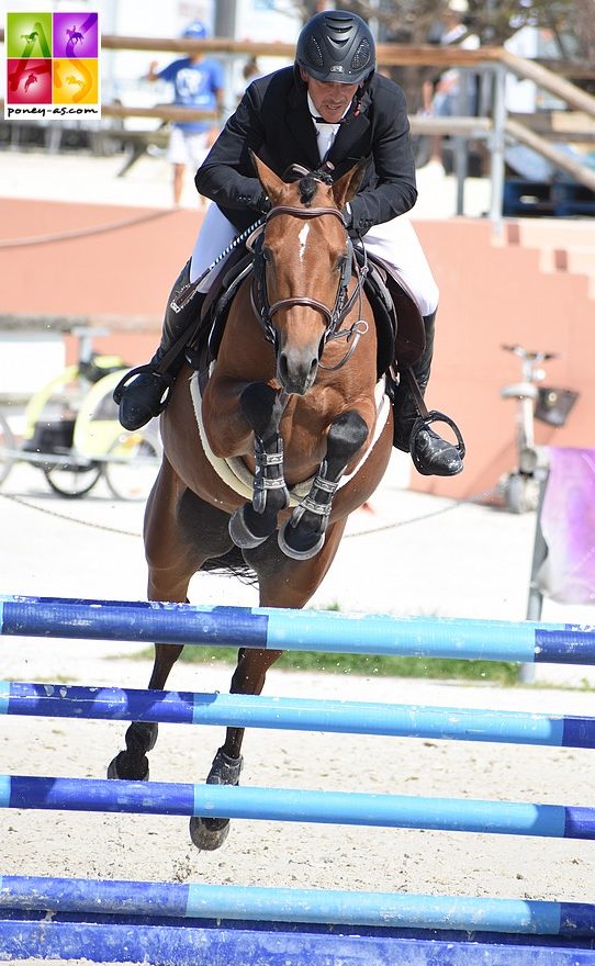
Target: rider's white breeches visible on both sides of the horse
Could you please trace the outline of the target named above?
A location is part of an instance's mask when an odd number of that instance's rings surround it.
[[[190,280],[198,279],[237,234],[237,229],[221,213],[216,204],[209,205],[192,252]],[[422,315],[431,315],[436,311],[439,295],[438,285],[415,234],[415,228],[406,215],[400,215],[391,222],[384,222],[382,225],[370,228],[363,238],[363,244],[368,251],[380,256],[397,269],[415,297]],[[211,273],[201,282],[199,285],[201,292],[209,291],[215,274],[222,267],[223,261],[217,266],[216,272]]]

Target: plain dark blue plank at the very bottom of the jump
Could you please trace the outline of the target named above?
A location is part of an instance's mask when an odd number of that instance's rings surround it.
[[[159,966],[594,966],[592,940],[209,920],[0,921],[0,961]]]

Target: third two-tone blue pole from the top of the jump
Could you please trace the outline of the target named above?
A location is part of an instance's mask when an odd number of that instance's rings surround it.
[[[134,812],[595,839],[595,809],[294,788],[0,776],[0,808]]]

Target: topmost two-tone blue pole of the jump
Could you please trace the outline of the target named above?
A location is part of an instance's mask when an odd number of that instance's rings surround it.
[[[0,633],[521,663],[595,664],[595,627],[263,607],[0,597]]]

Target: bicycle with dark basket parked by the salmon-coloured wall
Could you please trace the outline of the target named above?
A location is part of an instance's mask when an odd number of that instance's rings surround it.
[[[554,386],[540,386],[546,378],[543,362],[557,359],[557,352],[530,351],[524,346],[502,346],[514,352],[520,360],[520,382],[509,383],[501,390],[504,400],[516,400],[515,442],[517,465],[503,476],[498,490],[506,508],[521,514],[536,510],[539,504],[540,478],[538,470],[543,463],[543,453],[535,442],[535,420],[549,426],[563,426],[579,398],[573,390]]]

